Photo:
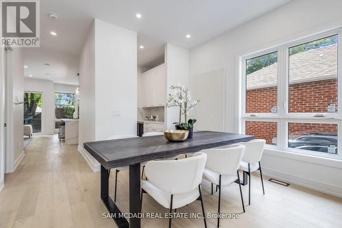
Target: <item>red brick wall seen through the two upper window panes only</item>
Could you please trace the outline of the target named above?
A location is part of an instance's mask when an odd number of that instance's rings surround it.
[[[327,112],[334,103],[337,111],[337,79],[291,84],[289,112]],[[246,112],[269,113],[277,105],[277,88],[247,90]]]

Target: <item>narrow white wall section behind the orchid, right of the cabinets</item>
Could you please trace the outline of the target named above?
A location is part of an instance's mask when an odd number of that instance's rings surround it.
[[[165,46],[165,64],[166,64],[166,86],[168,94],[172,91],[172,84],[180,83],[189,86],[189,50],[174,45]],[[174,129],[174,124],[179,122],[179,108],[166,108],[166,127]],[[182,119],[183,121],[183,119]]]

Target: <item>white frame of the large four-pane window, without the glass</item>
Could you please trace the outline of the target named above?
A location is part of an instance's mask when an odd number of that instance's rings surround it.
[[[289,48],[297,45],[326,38],[332,35],[338,35],[338,111],[336,113],[324,113],[324,116],[315,116],[315,113],[289,113]],[[267,53],[278,52],[278,77],[277,77],[277,101],[278,112],[275,113],[246,113],[246,60],[255,58]],[[298,153],[301,155],[311,155],[313,157],[326,157],[335,160],[342,160],[342,140],[338,140],[337,155],[330,153],[322,153],[317,151],[308,151],[304,149],[293,149],[288,146],[288,123],[330,123],[337,124],[337,134],[342,138],[342,27],[324,33],[307,36],[293,40],[270,49],[263,49],[263,51],[255,51],[252,54],[243,55],[239,57],[241,71],[241,116],[240,116],[240,131],[246,134],[246,121],[263,121],[276,122],[277,125],[277,145],[267,144],[267,149],[274,149],[285,151],[289,153]]]

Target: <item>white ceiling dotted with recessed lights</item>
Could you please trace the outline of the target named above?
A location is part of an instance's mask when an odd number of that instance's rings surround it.
[[[138,47],[145,47],[138,49],[138,64],[147,66],[160,61],[166,42],[191,49],[289,1],[43,0],[40,1],[41,47],[38,52],[49,50],[79,55],[93,18],[99,18],[137,31]],[[51,21],[49,12],[59,14],[60,18]],[[135,17],[137,12],[142,18]],[[57,32],[57,36],[51,36],[50,31]],[[185,38],[187,33],[192,37]],[[51,68],[53,65],[52,62]],[[61,75],[56,77],[62,78]]]

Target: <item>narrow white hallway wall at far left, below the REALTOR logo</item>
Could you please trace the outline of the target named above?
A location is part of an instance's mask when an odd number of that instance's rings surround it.
[[[15,104],[23,101],[23,81],[24,81],[24,58],[22,49],[8,51],[8,101],[6,122],[7,131],[7,167],[6,173],[11,173],[24,157],[23,152],[23,104]]]

